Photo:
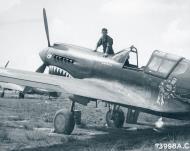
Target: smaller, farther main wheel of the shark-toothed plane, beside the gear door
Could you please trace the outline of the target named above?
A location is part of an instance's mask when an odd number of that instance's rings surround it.
[[[124,120],[125,115],[121,109],[115,111],[109,110],[106,113],[106,122],[108,127],[121,128],[123,126]]]

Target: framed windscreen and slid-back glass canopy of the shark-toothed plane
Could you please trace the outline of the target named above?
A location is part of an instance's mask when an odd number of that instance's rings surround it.
[[[131,52],[136,54],[137,64],[131,64]],[[113,56],[113,59],[123,64],[123,68],[138,68],[138,52],[132,49],[124,49]],[[145,72],[161,78],[167,78],[173,71],[176,65],[183,58],[177,55],[155,50],[150,57],[150,60],[145,67]],[[130,62],[130,63],[129,63]],[[128,65],[126,65],[128,63]],[[142,69],[142,68],[141,68]]]

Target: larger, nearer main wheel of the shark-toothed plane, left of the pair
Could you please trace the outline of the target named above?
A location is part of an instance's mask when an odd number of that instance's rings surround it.
[[[53,123],[56,133],[70,135],[75,127],[74,114],[70,111],[59,110],[55,114]]]

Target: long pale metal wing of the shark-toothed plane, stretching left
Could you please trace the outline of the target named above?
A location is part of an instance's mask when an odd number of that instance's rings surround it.
[[[155,101],[144,98],[137,91],[118,85],[117,82],[97,79],[75,79],[36,72],[0,68],[0,82],[67,92],[73,95],[103,100],[127,107],[152,111],[168,111]],[[172,106],[171,106],[172,107]],[[178,110],[178,109],[176,109]],[[175,110],[175,111],[176,111]],[[171,108],[173,112],[173,108]]]

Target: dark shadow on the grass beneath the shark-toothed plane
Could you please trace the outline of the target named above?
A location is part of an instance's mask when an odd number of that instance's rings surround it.
[[[138,123],[138,125],[146,125]],[[81,129],[82,130],[82,129]],[[153,128],[131,129],[131,127],[124,127],[122,129],[113,129],[106,127],[87,127],[85,130],[98,132],[92,137],[86,139],[71,139],[72,141],[63,142],[46,147],[38,147],[31,149],[24,149],[27,151],[61,151],[61,150],[128,150],[139,149],[144,146],[154,147],[155,143],[184,141],[190,135],[189,125],[185,126],[170,126],[160,131],[155,131]],[[100,132],[100,133],[99,133]],[[102,133],[101,133],[102,132]],[[73,133],[69,137],[76,137],[77,133]]]

